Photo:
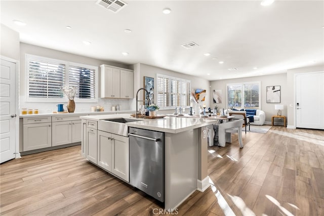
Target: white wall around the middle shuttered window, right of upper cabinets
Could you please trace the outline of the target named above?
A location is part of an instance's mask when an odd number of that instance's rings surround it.
[[[207,107],[210,106],[210,104],[209,104],[209,102],[210,102],[210,92],[209,92],[210,91],[210,89],[209,89],[210,81],[207,79],[196,77],[196,76],[191,76],[188,74],[183,74],[183,73],[179,73],[179,72],[175,72],[175,71],[171,71],[171,70],[167,70],[167,69],[163,69],[163,68],[158,68],[158,67],[154,67],[154,66],[150,66],[150,65],[146,65],[146,64],[136,64],[136,67],[134,67],[134,73],[135,73],[134,76],[136,76],[136,80],[139,81],[139,82],[136,82],[137,85],[134,85],[135,94],[139,88],[144,87],[144,76],[149,76],[149,77],[154,78],[154,89],[156,90],[157,89],[156,74],[164,74],[164,75],[168,75],[168,76],[174,76],[174,77],[190,80],[191,81],[191,91],[193,91],[195,89],[206,89],[207,92],[206,92],[205,102],[200,102],[200,105],[203,105],[205,103]],[[139,100],[143,100],[143,95],[144,95],[143,92],[139,93],[139,98],[140,98]],[[157,96],[156,96],[156,91],[155,91],[154,99],[156,99],[156,97]],[[168,114],[168,113],[173,113],[173,112],[174,112],[174,110],[162,110],[162,109],[160,109],[158,111],[159,114]],[[186,111],[186,112],[188,112],[188,111]]]

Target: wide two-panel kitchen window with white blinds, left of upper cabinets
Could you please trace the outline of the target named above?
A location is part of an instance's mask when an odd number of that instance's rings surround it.
[[[76,88],[75,101],[96,101],[98,67],[26,55],[26,101],[62,102],[63,86]]]

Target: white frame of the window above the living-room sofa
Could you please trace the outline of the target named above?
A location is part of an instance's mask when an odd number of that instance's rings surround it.
[[[244,85],[253,85],[257,84],[259,87],[258,90],[258,95],[259,95],[259,106],[258,107],[246,107],[246,99],[245,99],[245,90],[244,90]],[[237,82],[237,83],[227,83],[226,84],[226,106],[229,108],[229,98],[228,98],[228,88],[232,85],[240,85],[240,96],[241,96],[241,106],[236,107],[233,106],[235,109],[260,109],[261,110],[261,81],[252,81],[252,82]]]

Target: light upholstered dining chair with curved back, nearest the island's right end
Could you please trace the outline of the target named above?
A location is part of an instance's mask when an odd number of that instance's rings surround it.
[[[221,147],[225,147],[225,143],[231,143],[231,133],[238,134],[239,147],[243,148],[242,141],[242,125],[244,123],[243,119],[231,120],[219,124],[218,126],[218,144]]]

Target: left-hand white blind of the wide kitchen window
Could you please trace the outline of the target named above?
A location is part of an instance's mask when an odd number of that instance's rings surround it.
[[[29,59],[28,95],[31,98],[62,98],[61,87],[65,81],[65,65]]]

